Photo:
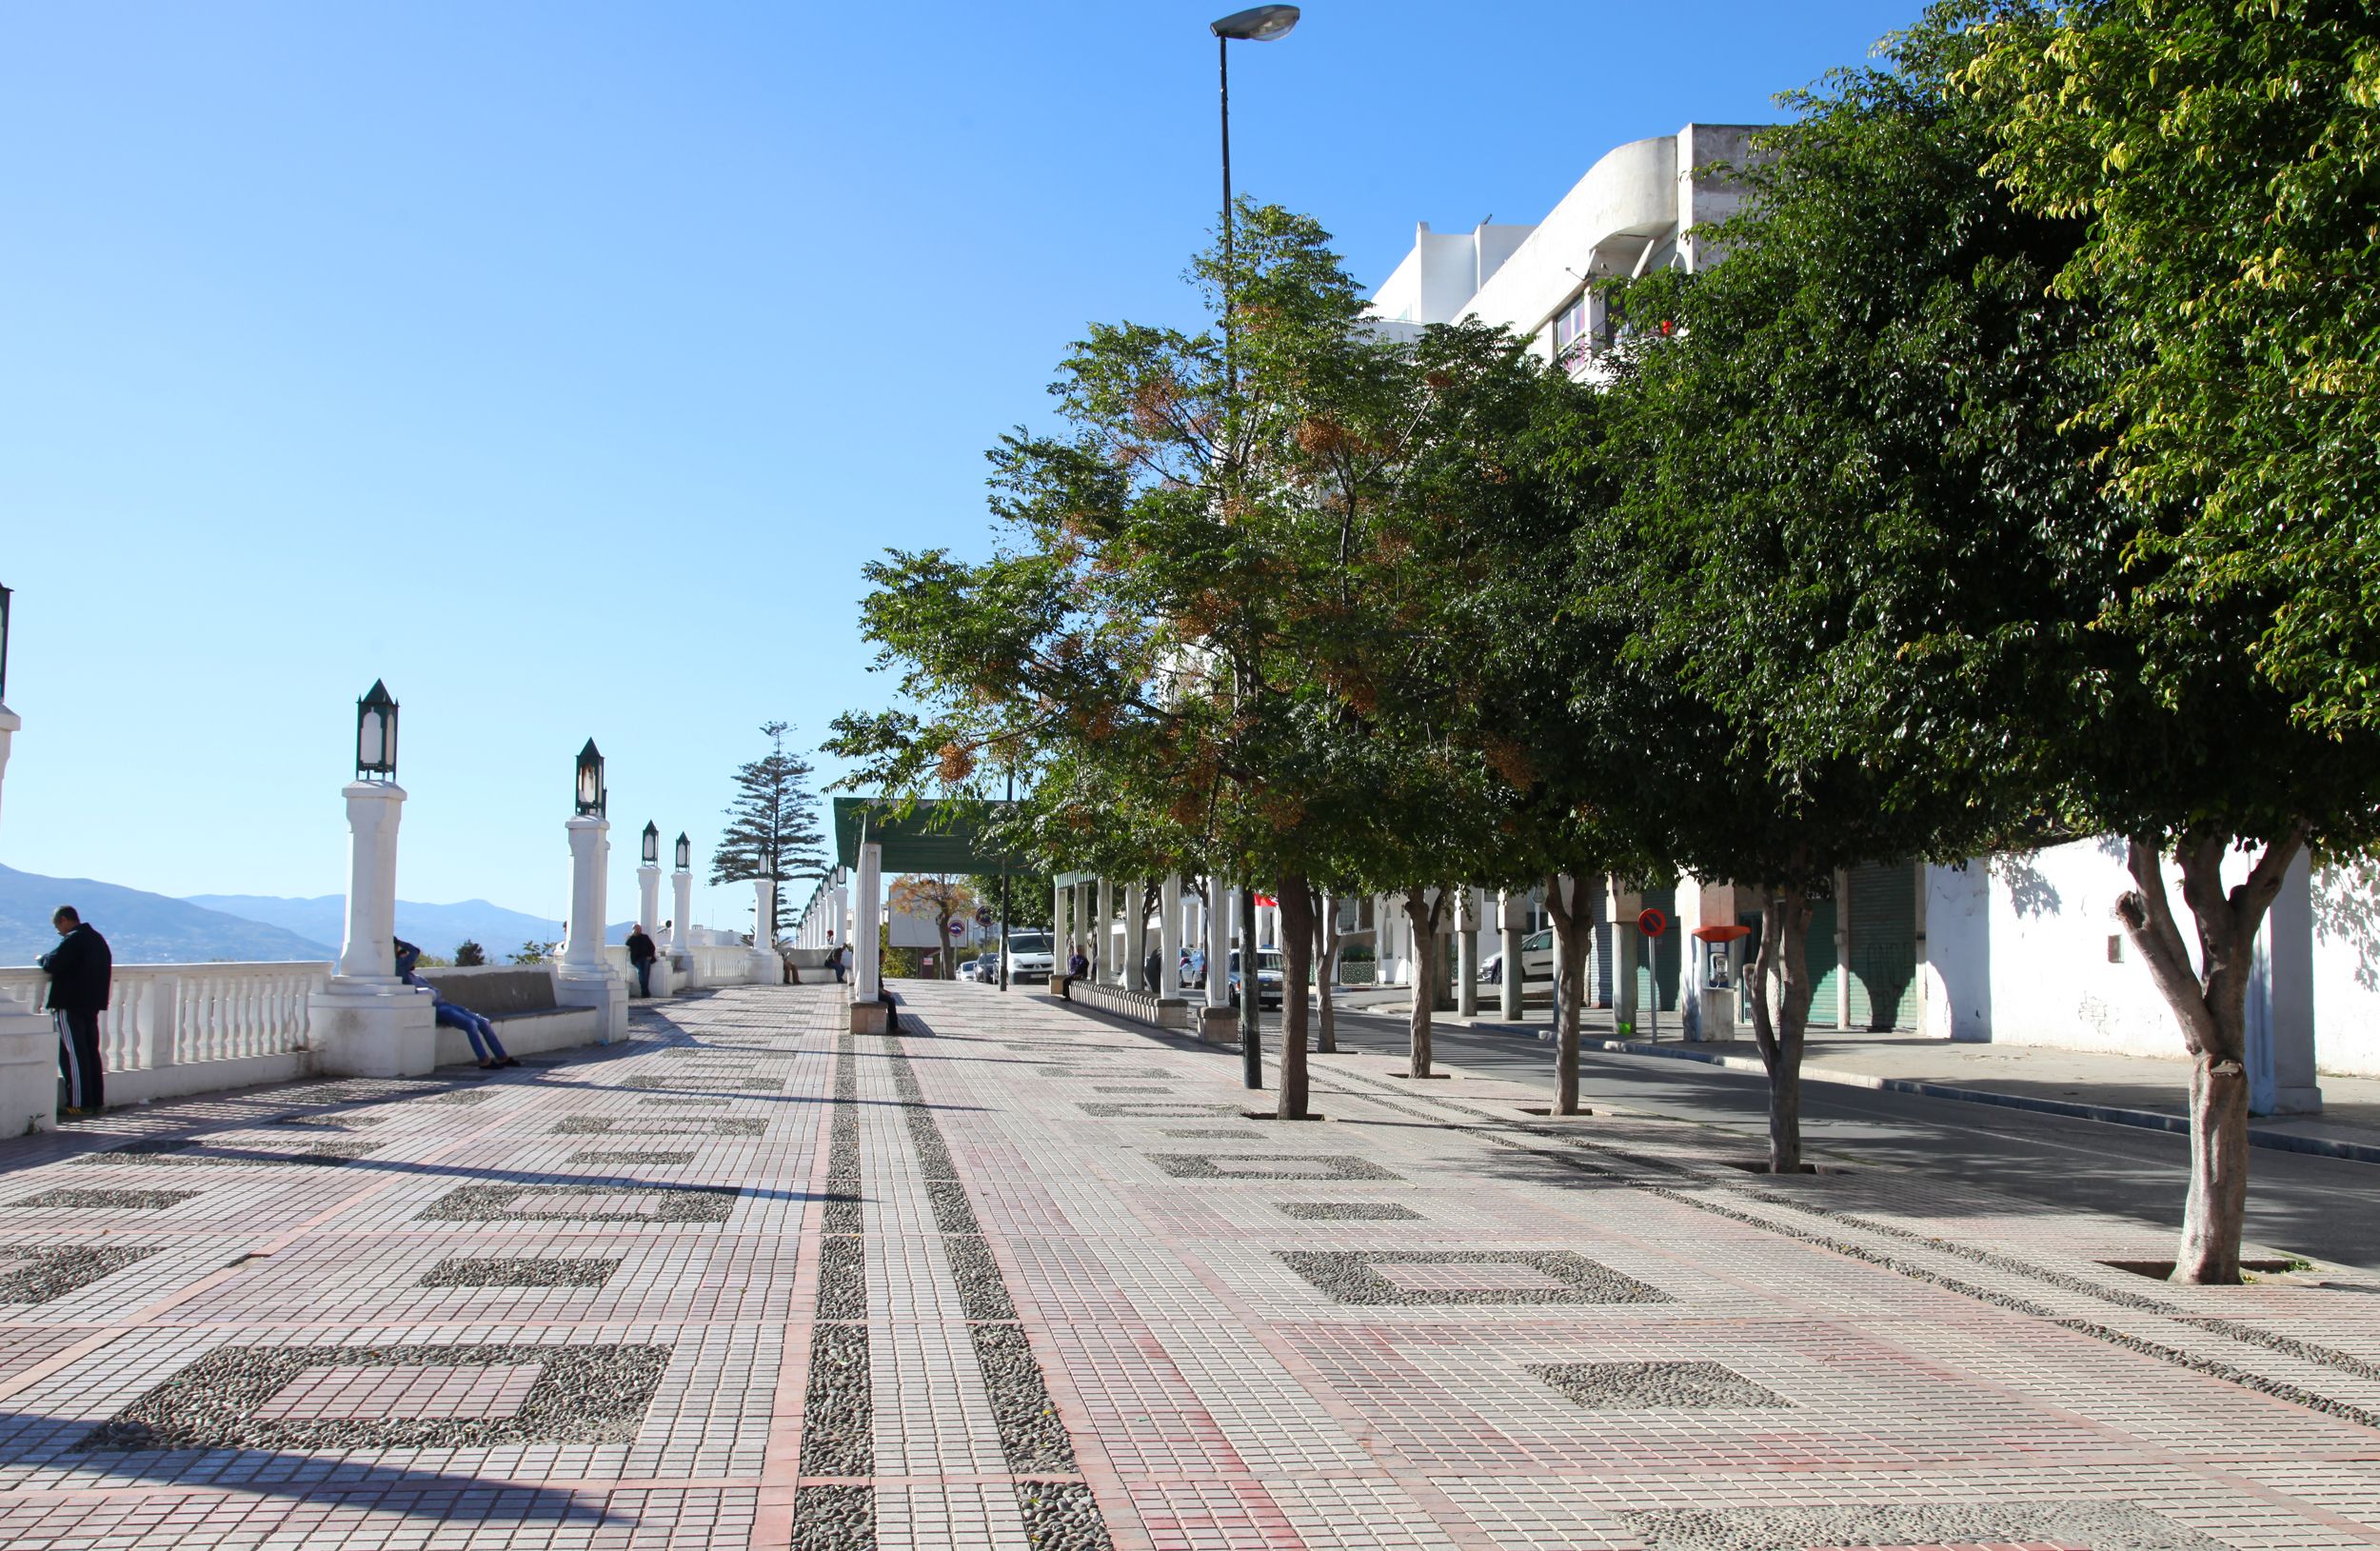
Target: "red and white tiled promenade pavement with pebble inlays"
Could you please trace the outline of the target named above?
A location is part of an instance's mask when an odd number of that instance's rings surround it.
[[[2380,1275],[904,990],[0,1144],[0,1549],[2380,1544]]]

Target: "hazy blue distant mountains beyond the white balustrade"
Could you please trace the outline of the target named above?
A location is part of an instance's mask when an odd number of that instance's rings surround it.
[[[57,944],[50,911],[71,904],[100,928],[119,963],[212,963],[226,959],[338,959],[347,937],[347,897],[281,899],[274,894],[193,894],[171,899],[90,878],[43,878],[0,866],[0,963],[33,963]],[[605,933],[626,942],[633,923]],[[478,942],[502,963],[524,942],[557,942],[562,923],[507,911],[486,899],[419,904],[397,899],[397,937],[452,959],[455,944]]]

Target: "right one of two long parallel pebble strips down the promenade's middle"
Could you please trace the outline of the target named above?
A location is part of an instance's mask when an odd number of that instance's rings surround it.
[[[950,1275],[959,1289],[959,1308],[976,1349],[976,1368],[983,1373],[983,1392],[1000,1430],[1000,1456],[1012,1475],[1028,1477],[1016,1482],[1016,1508],[1023,1515],[1026,1534],[1038,1551],[1111,1551],[1107,1518],[1090,1487],[1078,1480],[1073,1439],[1066,1437],[1066,1423],[1050,1401],[1050,1384],[1033,1358],[1023,1325],[1016,1323],[1016,1304],[983,1239],[983,1225],[976,1220],[966,1185],[959,1182],[952,1166],[950,1144],[926,1104],[907,1047],[900,1035],[885,1035],[883,1047],[892,1063],[892,1092],[907,1118],[909,1144],[926,1180],[933,1223],[942,1235]]]

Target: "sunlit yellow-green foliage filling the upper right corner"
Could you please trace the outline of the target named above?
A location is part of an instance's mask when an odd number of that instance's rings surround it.
[[[1973,7],[1990,167],[2087,221],[2056,276],[2104,309],[2090,404],[2161,521],[2140,604],[2223,611],[2316,728],[2380,728],[2380,45],[2342,0]]]

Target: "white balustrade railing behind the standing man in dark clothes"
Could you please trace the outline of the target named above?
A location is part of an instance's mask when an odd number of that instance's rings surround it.
[[[307,1047],[307,1001],[328,963],[119,963],[100,1013],[105,1070],[276,1056]],[[48,975],[0,968],[0,997],[36,1001]]]

